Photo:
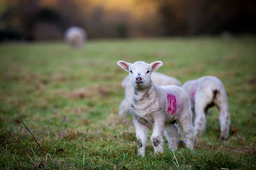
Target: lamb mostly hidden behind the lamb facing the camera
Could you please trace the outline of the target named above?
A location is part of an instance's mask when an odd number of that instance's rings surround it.
[[[152,73],[151,79],[156,85],[158,86],[164,86],[164,85],[177,85],[181,86],[180,81],[176,78],[166,76],[161,73]],[[119,106],[118,115],[120,117],[125,117],[127,115],[127,112],[129,111],[129,106],[131,103],[132,98],[132,83],[129,80],[129,76],[125,76],[124,80],[122,81],[122,87],[124,87],[125,90],[125,97],[122,103]]]

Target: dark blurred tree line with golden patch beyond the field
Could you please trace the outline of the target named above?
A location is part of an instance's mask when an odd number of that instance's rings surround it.
[[[0,39],[62,39],[255,33],[253,0],[0,0]]]

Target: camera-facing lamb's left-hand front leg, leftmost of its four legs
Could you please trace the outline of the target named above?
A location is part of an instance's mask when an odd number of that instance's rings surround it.
[[[145,147],[147,145],[147,132],[148,127],[145,124],[142,124],[136,118],[133,118],[133,124],[136,130],[136,137],[138,142],[138,155],[141,157],[145,156]]]

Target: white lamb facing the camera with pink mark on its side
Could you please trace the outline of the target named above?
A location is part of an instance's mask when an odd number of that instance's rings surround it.
[[[192,150],[195,145],[195,134],[188,95],[175,85],[159,87],[150,77],[152,72],[163,65],[163,62],[147,64],[137,61],[131,64],[120,60],[117,64],[129,72],[134,87],[129,112],[133,116],[136,130],[138,155],[145,156],[147,123],[153,124],[154,128],[151,136],[154,153],[163,152],[163,132],[169,148],[177,149],[179,131],[175,123],[179,124],[184,143]]]

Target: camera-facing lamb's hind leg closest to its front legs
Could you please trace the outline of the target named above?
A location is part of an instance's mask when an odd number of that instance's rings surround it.
[[[177,150],[179,142],[179,130],[175,124],[168,124],[165,126],[164,134],[168,141],[169,148]]]

